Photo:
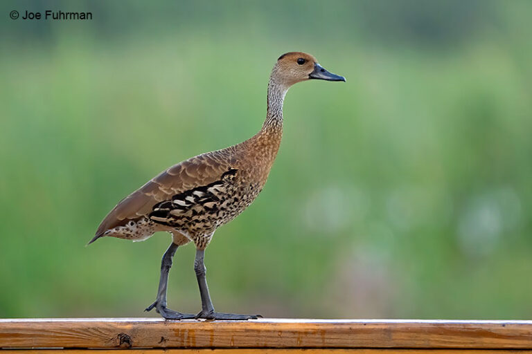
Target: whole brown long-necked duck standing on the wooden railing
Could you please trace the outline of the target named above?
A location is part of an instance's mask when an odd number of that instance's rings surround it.
[[[161,259],[155,309],[164,319],[247,320],[258,315],[216,312],[206,281],[204,254],[218,227],[229,223],[262,191],[283,136],[283,102],[288,89],[299,82],[346,82],[330,73],[315,57],[290,52],[278,57],[267,86],[267,113],[254,136],[225,149],[202,153],[165,169],[123,198],[103,218],[88,244],[105,236],[143,241],[155,232],[168,232],[170,246]],[[181,313],[167,307],[168,273],[177,248],[194,243],[194,270],[202,310]]]

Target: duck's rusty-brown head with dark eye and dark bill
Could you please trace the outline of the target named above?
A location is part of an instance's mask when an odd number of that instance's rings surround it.
[[[346,81],[345,77],[326,71],[312,55],[302,52],[281,55],[274,66],[272,79],[286,86],[312,79]]]

